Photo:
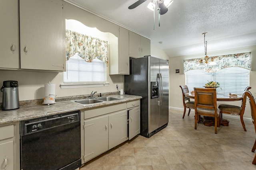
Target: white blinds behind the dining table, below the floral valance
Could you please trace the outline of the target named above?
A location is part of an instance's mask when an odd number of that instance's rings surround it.
[[[185,73],[186,85],[190,91],[194,87],[203,88],[208,81],[220,83],[219,93],[242,94],[250,82],[250,70],[241,67],[228,67],[214,73],[202,70],[189,70]]]

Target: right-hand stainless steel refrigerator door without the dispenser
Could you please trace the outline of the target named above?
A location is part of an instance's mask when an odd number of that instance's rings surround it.
[[[169,61],[160,59],[159,73],[162,75],[162,104],[159,107],[159,127],[169,119]]]

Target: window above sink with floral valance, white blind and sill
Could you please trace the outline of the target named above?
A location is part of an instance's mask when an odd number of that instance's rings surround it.
[[[64,88],[108,86],[108,41],[66,29]]]

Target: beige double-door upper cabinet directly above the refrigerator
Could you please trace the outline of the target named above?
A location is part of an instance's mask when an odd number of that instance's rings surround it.
[[[150,55],[150,39],[129,32],[129,56],[134,58]]]

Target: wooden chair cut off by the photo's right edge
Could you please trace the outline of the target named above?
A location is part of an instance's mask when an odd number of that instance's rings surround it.
[[[245,100],[246,100],[246,97],[249,98],[250,107],[251,107],[251,115],[252,115],[252,124],[254,124],[254,130],[255,130],[255,133],[256,133],[256,123],[254,121],[254,119],[256,118],[256,103],[255,103],[255,99],[254,99],[254,97],[252,96],[252,93],[249,90],[245,90],[244,96],[245,96]],[[254,152],[255,149],[256,149],[256,139],[255,139],[254,145],[252,147],[252,152]],[[252,164],[256,165],[256,155],[254,156]]]

